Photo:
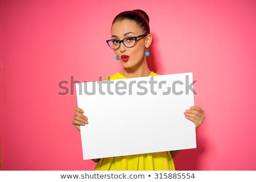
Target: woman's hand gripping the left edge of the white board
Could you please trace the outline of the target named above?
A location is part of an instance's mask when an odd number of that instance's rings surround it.
[[[75,115],[72,119],[72,124],[80,131],[80,126],[85,126],[88,124],[88,118],[84,115],[84,111],[79,107],[75,107]]]

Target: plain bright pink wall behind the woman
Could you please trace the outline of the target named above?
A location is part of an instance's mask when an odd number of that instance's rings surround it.
[[[61,80],[98,80],[121,68],[105,40],[115,15],[143,9],[160,74],[193,72],[206,119],[178,170],[256,170],[256,1],[1,1],[3,170],[92,170],[72,126],[76,96]],[[71,90],[69,90],[71,91]],[[102,148],[104,150],[104,148]]]

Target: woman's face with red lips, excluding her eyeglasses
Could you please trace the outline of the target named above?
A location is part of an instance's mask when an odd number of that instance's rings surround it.
[[[115,22],[111,28],[112,39],[122,40],[130,36],[144,34],[141,27],[132,20],[124,19]],[[144,38],[138,38],[134,47],[127,48],[121,43],[120,47],[115,50],[119,60],[124,68],[138,68],[139,65],[146,61],[144,56],[145,41]]]

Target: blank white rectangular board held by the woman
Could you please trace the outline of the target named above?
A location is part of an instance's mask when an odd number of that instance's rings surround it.
[[[192,73],[76,84],[85,159],[196,148]]]

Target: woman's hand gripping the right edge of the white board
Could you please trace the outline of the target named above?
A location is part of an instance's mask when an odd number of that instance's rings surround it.
[[[185,118],[189,119],[193,123],[195,123],[196,128],[204,122],[205,115],[204,111],[197,106],[191,106],[189,109],[185,110],[184,112]]]

